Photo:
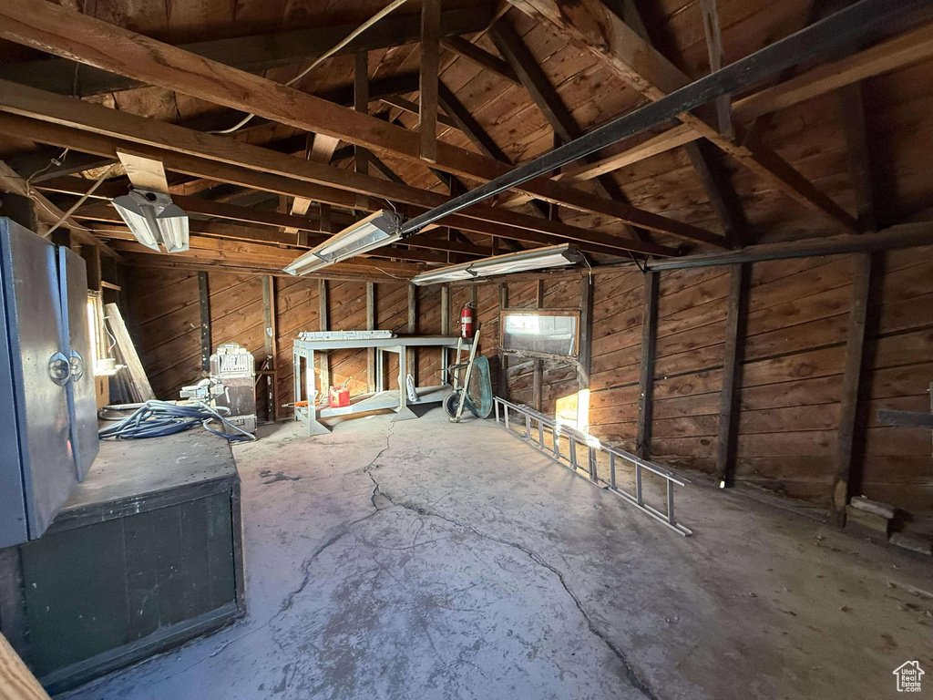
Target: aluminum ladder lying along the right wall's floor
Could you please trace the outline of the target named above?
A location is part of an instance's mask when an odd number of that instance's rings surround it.
[[[544,413],[538,413],[527,406],[520,406],[499,397],[494,397],[494,405],[495,422],[505,427],[512,435],[527,442],[539,452],[550,456],[551,459],[562,467],[569,469],[600,488],[611,491],[638,510],[648,513],[652,518],[667,525],[675,532],[685,537],[693,534],[689,528],[680,525],[674,517],[674,487],[689,483],[686,479],[676,476],[674,472],[669,469],[664,469],[660,464],[642,459],[624,450],[609,447],[592,435],[580,432],[577,428],[561,425],[558,421],[546,416]],[[524,434],[517,429],[512,429],[511,425],[514,423],[514,420],[509,420],[511,413],[519,413],[522,416],[521,420],[523,422]],[[520,423],[520,425],[522,424]],[[532,429],[533,427],[536,427],[534,432]],[[545,433],[549,430],[550,445],[545,441]],[[561,450],[562,437],[568,441],[566,454]],[[587,463],[585,467],[579,464],[577,455],[578,446],[586,447]],[[597,454],[600,453],[608,455],[608,481],[600,477],[598,473]],[[616,481],[617,461],[619,459],[634,466],[634,493],[629,493],[621,488]],[[655,474],[664,480],[664,494],[666,500],[666,508],[664,511],[659,511],[645,502],[645,490],[643,488],[643,472],[645,470],[648,470],[651,474]]]

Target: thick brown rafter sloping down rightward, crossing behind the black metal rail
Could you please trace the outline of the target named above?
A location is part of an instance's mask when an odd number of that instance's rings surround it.
[[[653,49],[631,27],[602,5],[600,0],[578,0],[572,11],[564,11],[557,0],[509,0],[529,16],[550,24],[605,63],[616,75],[652,101],[688,85],[689,77]],[[611,37],[608,44],[606,37]],[[679,119],[697,133],[741,162],[775,189],[815,212],[833,218],[849,231],[856,231],[855,217],[816,189],[787,161],[760,142],[742,143],[723,137],[716,128],[691,112]]]

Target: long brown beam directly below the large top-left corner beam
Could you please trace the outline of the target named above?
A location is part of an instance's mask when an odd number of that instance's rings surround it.
[[[304,161],[267,148],[240,144],[222,136],[192,132],[155,119],[135,117],[102,105],[77,102],[14,83],[0,81],[0,111],[29,118],[23,121],[20,117],[0,115],[0,131],[7,133],[29,133],[36,141],[62,142],[86,152],[104,155],[115,152],[118,147],[128,147],[127,143],[132,142],[133,150],[160,158],[168,170],[223,180],[252,189],[268,189],[280,194],[307,197],[350,209],[359,206],[355,193],[409,203],[419,210],[430,209],[448,200],[448,197],[438,192],[411,188],[380,177],[359,175],[325,163]],[[40,123],[42,129],[37,130],[35,124],[28,123],[33,118],[49,123]],[[62,124],[66,125],[63,131]],[[75,133],[75,129],[88,133]],[[168,150],[161,150],[163,148]],[[647,212],[643,214],[648,215]],[[478,225],[475,219],[480,219],[482,223]],[[679,226],[687,226],[672,222],[675,223],[673,227],[661,227],[659,220],[671,220],[659,215],[648,215],[641,219],[646,228],[655,230],[674,228],[679,231]],[[673,249],[661,245],[630,242],[599,231],[578,229],[486,204],[473,205],[458,215],[447,217],[445,221],[465,231],[515,237],[516,240],[531,243],[548,243],[557,237],[584,245],[615,248],[617,251],[632,250],[661,256],[675,254]],[[507,229],[511,236],[503,235],[502,231]],[[692,231],[693,227],[689,227],[689,230]]]

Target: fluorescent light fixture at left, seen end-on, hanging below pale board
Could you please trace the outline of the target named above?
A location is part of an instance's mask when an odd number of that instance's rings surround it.
[[[158,251],[161,244],[166,253],[188,250],[188,215],[167,194],[131,189],[115,197],[113,205],[136,240],[147,248]]]

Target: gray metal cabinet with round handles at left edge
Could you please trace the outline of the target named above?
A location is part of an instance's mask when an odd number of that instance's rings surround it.
[[[81,368],[73,357],[87,357],[89,343],[87,277],[75,258],[0,217],[0,547],[42,535],[97,451],[87,423],[96,428],[96,406],[84,393],[93,398],[92,358]],[[78,369],[87,376],[74,382]]]

